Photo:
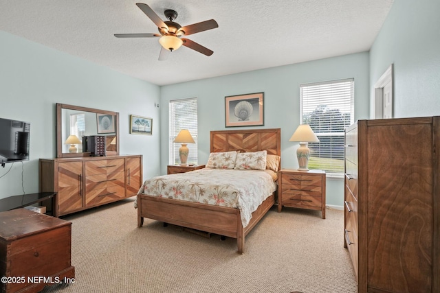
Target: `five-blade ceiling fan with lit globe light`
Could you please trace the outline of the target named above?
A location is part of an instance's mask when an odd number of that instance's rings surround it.
[[[177,12],[175,10],[167,9],[164,14],[168,21],[162,21],[159,16],[150,8],[150,6],[144,3],[136,3],[137,7],[142,10],[146,16],[148,16],[159,30],[160,34],[115,34],[116,38],[157,38],[159,37],[159,43],[162,45],[159,60],[166,60],[170,51],[179,49],[181,45],[211,56],[214,51],[203,47],[202,45],[195,43],[188,38],[182,38],[183,36],[189,36],[197,32],[203,32],[206,30],[212,30],[219,27],[217,21],[210,19],[209,21],[202,21],[201,23],[194,23],[192,25],[186,25],[182,27],[179,23],[175,23],[173,20],[177,18]]]

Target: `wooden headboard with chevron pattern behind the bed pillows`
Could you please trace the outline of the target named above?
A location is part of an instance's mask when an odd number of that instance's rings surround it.
[[[211,131],[210,139],[210,152],[267,150],[281,156],[281,128]]]

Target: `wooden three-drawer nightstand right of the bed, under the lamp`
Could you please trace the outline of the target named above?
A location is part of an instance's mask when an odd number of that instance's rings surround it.
[[[278,213],[283,206],[314,209],[325,219],[325,171],[281,169],[278,180]]]

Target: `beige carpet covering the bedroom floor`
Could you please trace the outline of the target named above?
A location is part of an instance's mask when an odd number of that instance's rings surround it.
[[[201,237],[145,219],[133,199],[64,217],[76,282],[43,292],[357,292],[343,211],[273,207],[245,239]]]

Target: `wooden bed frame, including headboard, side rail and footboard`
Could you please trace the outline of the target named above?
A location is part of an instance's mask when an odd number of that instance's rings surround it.
[[[241,150],[281,156],[281,129],[221,130],[210,132],[210,152]],[[281,167],[281,166],[280,166]],[[236,238],[238,253],[244,253],[245,236],[275,203],[275,194],[268,197],[252,213],[248,226],[241,224],[240,210],[210,204],[137,195],[137,226],[144,218]]]

